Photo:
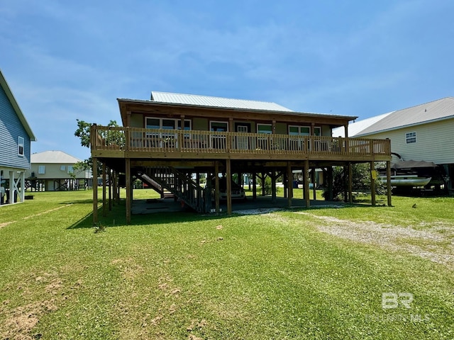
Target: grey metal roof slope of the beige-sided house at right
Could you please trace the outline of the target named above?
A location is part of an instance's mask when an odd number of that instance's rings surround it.
[[[447,118],[454,118],[454,97],[446,97],[437,101],[394,111],[368,127],[365,127],[356,136],[365,136]]]

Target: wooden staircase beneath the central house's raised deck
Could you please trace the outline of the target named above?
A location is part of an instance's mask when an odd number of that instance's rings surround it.
[[[148,167],[137,176],[161,196],[167,191],[196,212],[209,212],[211,208],[211,193],[172,166]]]

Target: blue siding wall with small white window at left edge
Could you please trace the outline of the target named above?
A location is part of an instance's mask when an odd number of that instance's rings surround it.
[[[18,155],[18,137],[23,137],[23,156]],[[30,136],[0,87],[0,166],[30,169]]]

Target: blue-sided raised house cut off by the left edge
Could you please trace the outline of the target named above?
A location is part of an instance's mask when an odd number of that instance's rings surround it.
[[[0,204],[23,202],[35,135],[0,71]]]

